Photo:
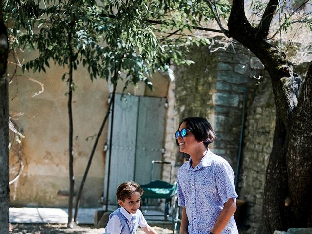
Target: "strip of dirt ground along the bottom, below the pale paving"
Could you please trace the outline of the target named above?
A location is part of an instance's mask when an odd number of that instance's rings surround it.
[[[66,224],[12,224],[14,234],[103,234],[104,228],[93,228],[93,226],[78,226],[66,228]],[[158,234],[172,234],[166,228],[154,227]],[[138,230],[137,234],[144,234]]]

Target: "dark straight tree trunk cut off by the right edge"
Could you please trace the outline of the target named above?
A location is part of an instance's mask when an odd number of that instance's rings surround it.
[[[311,227],[312,197],[312,63],[304,80],[287,152],[290,209],[294,227]]]

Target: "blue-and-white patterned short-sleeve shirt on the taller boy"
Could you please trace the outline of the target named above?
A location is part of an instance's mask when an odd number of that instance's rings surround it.
[[[236,202],[234,172],[222,157],[208,149],[195,168],[191,159],[180,167],[178,200],[186,209],[189,234],[209,234],[230,198]],[[221,234],[238,234],[233,216]]]

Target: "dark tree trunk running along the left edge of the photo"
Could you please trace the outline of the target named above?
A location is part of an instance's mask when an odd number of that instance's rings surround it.
[[[6,66],[9,51],[0,0],[0,233],[9,233],[9,98]]]

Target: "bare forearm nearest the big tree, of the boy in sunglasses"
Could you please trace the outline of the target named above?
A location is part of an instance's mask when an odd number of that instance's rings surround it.
[[[236,211],[236,202],[234,202],[233,198],[230,198],[226,203],[224,203],[224,207],[215,222],[215,226],[211,230],[214,234],[220,234],[224,227],[229,222],[232,215]]]

